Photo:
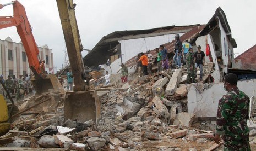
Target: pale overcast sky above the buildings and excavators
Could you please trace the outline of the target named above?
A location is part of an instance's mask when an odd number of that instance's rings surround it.
[[[1,4],[9,0],[0,0]],[[26,9],[36,43],[52,49],[56,69],[64,64],[64,37],[55,0],[20,0]],[[206,24],[221,7],[230,25],[232,37],[242,53],[256,44],[256,1],[205,0],[74,0],[81,41],[92,49],[113,31],[143,30],[162,26]],[[0,9],[0,16],[13,15],[12,6]],[[15,27],[0,30],[0,39],[20,42]],[[85,53],[83,53],[85,55]]]

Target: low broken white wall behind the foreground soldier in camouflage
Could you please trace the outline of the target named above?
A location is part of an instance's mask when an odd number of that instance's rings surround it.
[[[256,95],[256,80],[239,81],[237,87],[250,98]],[[188,89],[188,112],[195,117],[216,117],[219,100],[226,93],[223,83],[211,83],[210,88],[201,93],[192,85]]]

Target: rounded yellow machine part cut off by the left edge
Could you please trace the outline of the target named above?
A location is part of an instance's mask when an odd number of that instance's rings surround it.
[[[8,123],[8,108],[3,95],[0,95],[0,136],[6,134],[10,130]]]

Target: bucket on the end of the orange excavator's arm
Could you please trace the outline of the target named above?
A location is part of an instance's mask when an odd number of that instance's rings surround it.
[[[59,83],[58,78],[54,74],[48,74],[43,79],[36,79],[35,77],[32,77],[31,82],[35,88],[36,95],[48,92],[48,89],[54,89],[64,93],[61,83]]]

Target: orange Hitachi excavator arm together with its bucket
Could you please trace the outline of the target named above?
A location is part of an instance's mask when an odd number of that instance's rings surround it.
[[[7,5],[13,5],[13,16],[0,16],[0,29],[12,26],[17,27],[17,32],[28,57],[29,67],[35,75],[31,78],[31,82],[35,88],[36,95],[47,92],[48,89],[62,90],[58,78],[55,75],[47,75],[45,61],[39,58],[39,49],[32,34],[32,28],[24,6],[18,1],[12,1],[7,4],[0,4],[0,9]]]

